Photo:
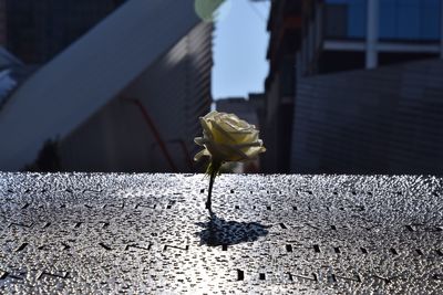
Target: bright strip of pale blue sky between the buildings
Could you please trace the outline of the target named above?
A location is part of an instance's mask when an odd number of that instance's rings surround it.
[[[215,99],[262,92],[268,73],[266,22],[269,2],[227,0],[214,32]]]

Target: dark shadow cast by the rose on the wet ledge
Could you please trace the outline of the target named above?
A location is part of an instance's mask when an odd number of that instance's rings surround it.
[[[262,225],[258,222],[226,221],[214,213],[208,222],[197,222],[203,230],[197,232],[200,244],[209,246],[234,245],[244,242],[257,241],[259,236],[268,234],[271,225]]]

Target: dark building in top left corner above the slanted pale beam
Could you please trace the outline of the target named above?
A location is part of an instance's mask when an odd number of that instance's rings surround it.
[[[124,0],[2,0],[0,42],[24,63],[43,64],[123,2]],[[3,28],[2,14],[6,14]]]

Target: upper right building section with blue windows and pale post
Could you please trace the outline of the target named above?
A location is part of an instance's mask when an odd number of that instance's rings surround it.
[[[373,69],[443,54],[441,0],[310,2],[311,12],[302,14],[299,75]]]

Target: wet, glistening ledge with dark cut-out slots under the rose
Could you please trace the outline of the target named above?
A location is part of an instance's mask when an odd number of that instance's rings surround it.
[[[0,173],[0,294],[439,294],[434,177]]]

